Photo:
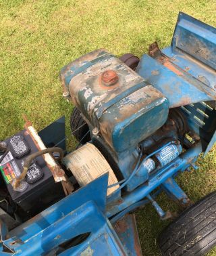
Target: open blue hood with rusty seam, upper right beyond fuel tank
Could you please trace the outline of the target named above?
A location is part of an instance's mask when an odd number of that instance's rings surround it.
[[[152,44],[136,71],[159,89],[170,107],[216,100],[216,29],[180,13],[170,47]]]

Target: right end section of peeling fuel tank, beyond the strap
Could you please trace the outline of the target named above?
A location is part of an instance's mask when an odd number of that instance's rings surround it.
[[[157,113],[155,108],[158,108]],[[146,85],[103,112],[100,119],[101,135],[111,148],[121,152],[135,147],[159,129],[165,123],[167,113],[167,99],[153,86]],[[132,128],[134,123],[140,123],[136,133]]]

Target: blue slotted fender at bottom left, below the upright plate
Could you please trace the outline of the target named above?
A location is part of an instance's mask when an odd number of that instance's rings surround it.
[[[101,250],[105,252],[104,255],[122,255],[124,253],[117,235],[93,201],[88,201],[58,221],[51,222],[47,228],[43,228],[42,232],[37,232],[28,240],[23,240],[23,243],[16,240],[13,248],[16,255],[42,255],[61,247],[61,244],[74,237],[86,233],[90,233],[90,235],[84,240],[84,243],[70,247],[58,254],[84,255],[86,253],[89,255],[94,253],[94,255],[101,255]]]

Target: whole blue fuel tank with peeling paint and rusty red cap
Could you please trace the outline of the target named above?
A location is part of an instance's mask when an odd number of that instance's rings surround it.
[[[105,49],[65,66],[60,77],[64,94],[115,152],[136,147],[167,120],[163,93]]]

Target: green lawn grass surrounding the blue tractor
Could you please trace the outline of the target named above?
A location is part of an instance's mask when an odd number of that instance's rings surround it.
[[[61,67],[101,47],[117,56],[141,56],[154,41],[165,47],[179,11],[216,26],[215,0],[0,0],[0,139],[23,128],[22,114],[38,130],[63,114],[69,119],[72,105],[61,97]],[[68,122],[67,129],[69,134]],[[178,179],[194,201],[216,189],[215,154]],[[159,203],[176,209],[165,195]],[[156,240],[167,222],[151,206],[136,216],[144,255],[159,255]]]

